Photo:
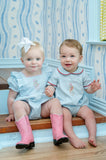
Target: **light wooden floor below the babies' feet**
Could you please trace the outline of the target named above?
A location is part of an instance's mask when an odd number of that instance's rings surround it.
[[[85,149],[75,149],[70,143],[57,147],[53,143],[37,143],[31,150],[17,150],[15,147],[0,150],[1,160],[106,160],[106,136],[97,137],[97,147],[88,144]]]

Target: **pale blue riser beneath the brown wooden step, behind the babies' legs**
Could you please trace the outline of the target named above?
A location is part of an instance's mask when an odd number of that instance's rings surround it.
[[[85,125],[73,126],[73,130],[79,138],[88,138],[88,131]],[[47,143],[53,141],[52,129],[33,130],[35,143]],[[97,137],[106,136],[106,123],[97,124]],[[19,132],[0,134],[0,149],[12,147],[20,141]]]

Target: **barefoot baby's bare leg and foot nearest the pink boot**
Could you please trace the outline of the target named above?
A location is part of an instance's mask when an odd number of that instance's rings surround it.
[[[71,144],[75,148],[85,148],[85,143],[81,141],[73,131],[72,115],[67,108],[63,108],[63,115],[64,115],[64,131],[66,135],[69,137]]]

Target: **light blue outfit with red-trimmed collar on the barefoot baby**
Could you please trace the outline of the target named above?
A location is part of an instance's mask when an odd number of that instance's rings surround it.
[[[80,107],[88,105],[88,98],[84,94],[84,89],[91,84],[91,79],[85,71],[78,67],[73,72],[67,72],[62,66],[57,68],[48,81],[48,85],[56,87],[56,98],[60,100],[62,106],[67,107]],[[70,109],[71,111],[71,109]]]

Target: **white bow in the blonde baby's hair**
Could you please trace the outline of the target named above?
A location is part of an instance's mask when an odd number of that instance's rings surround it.
[[[20,47],[20,49],[22,47],[24,47],[25,53],[28,52],[28,50],[30,49],[31,45],[35,46],[36,44],[34,44],[32,41],[30,41],[27,37],[23,37],[21,39],[21,42],[18,43],[18,46]]]

